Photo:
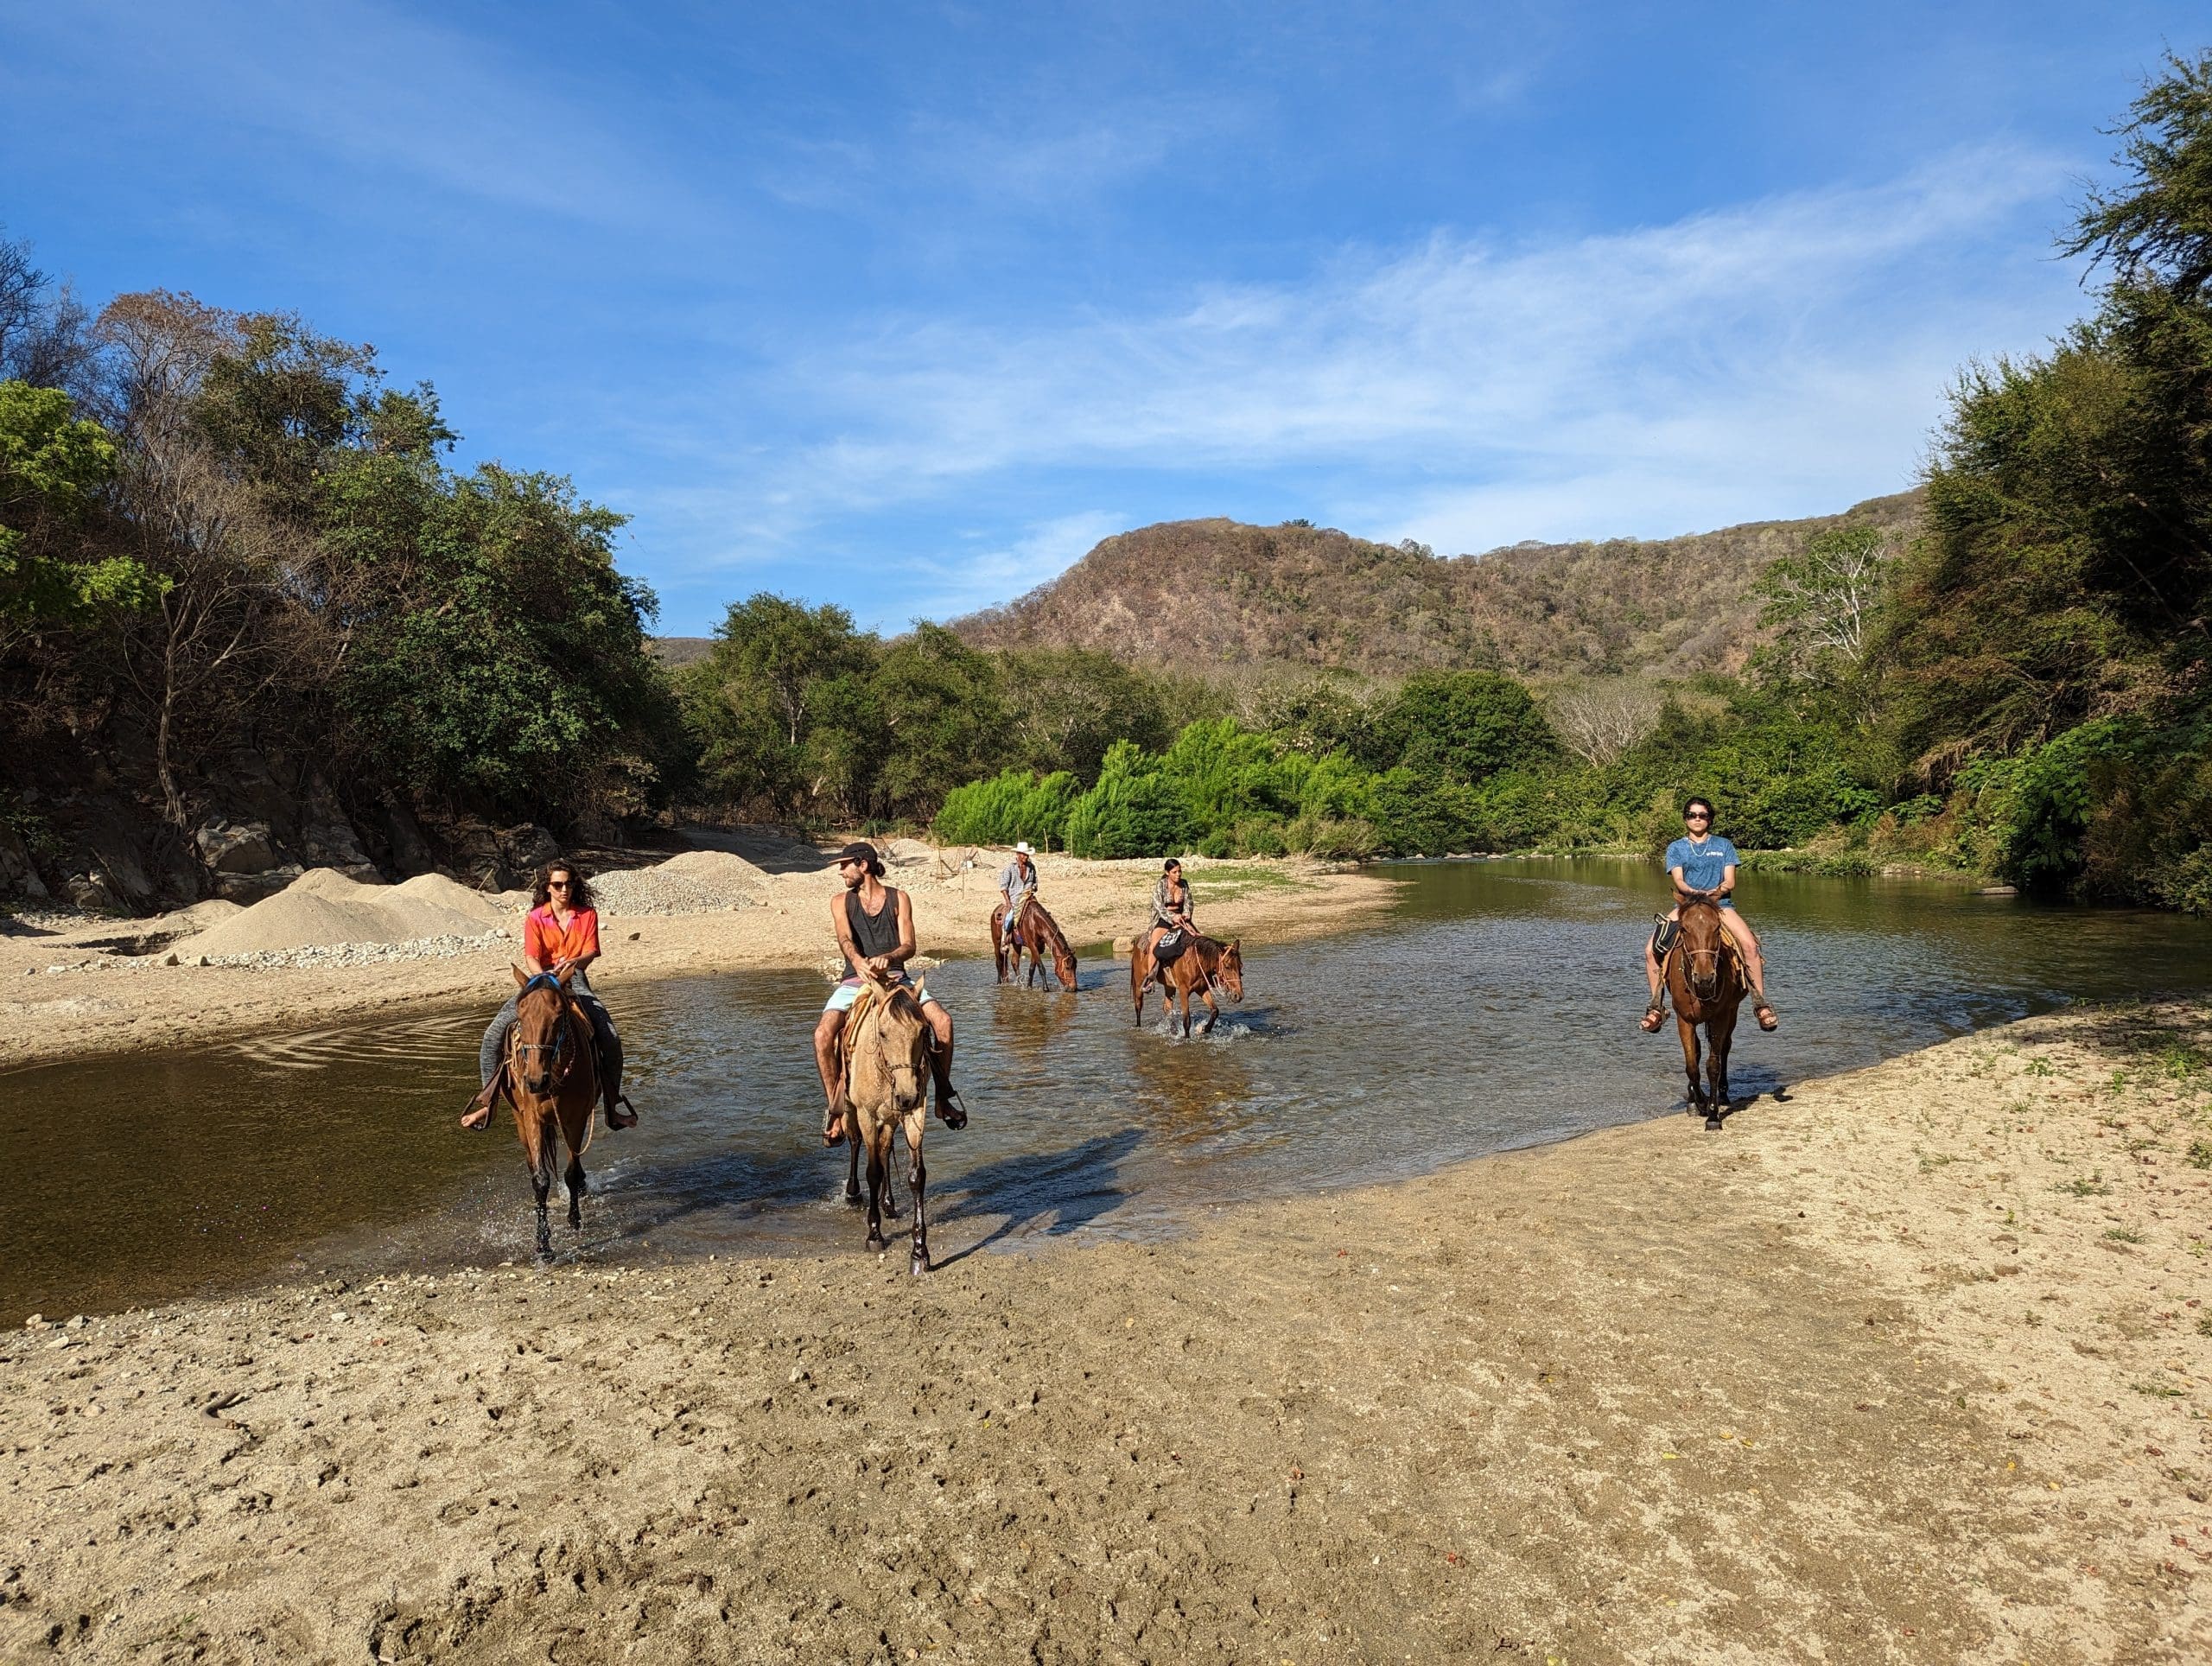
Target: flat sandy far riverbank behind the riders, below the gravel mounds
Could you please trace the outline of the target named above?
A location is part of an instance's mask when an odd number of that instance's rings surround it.
[[[925,954],[991,949],[991,907],[1004,856],[984,852],[973,867],[962,870],[958,861],[964,854],[911,861],[887,876],[914,894],[916,936]],[[1190,872],[1199,920],[1221,936],[1283,940],[1327,931],[1358,914],[1380,912],[1396,894],[1387,878],[1307,861],[1192,858]],[[1144,923],[1159,865],[1042,856],[1037,878],[1062,929],[1077,949],[1086,949]],[[307,876],[301,885],[312,881]],[[734,912],[606,912],[606,956],[593,967],[593,982],[608,1000],[619,1002],[622,987],[637,978],[730,967],[816,967],[836,949],[830,934],[830,903],[836,894],[838,878],[830,867],[792,865],[763,872],[748,905]],[[153,956],[142,965],[119,965],[115,956],[84,947],[161,925],[100,920],[49,936],[0,936],[0,1069],[471,998],[484,1000],[489,1016],[511,987],[507,967],[520,940],[518,914],[515,940],[447,940],[438,954],[367,962],[166,967]],[[440,916],[436,929],[458,927]]]

